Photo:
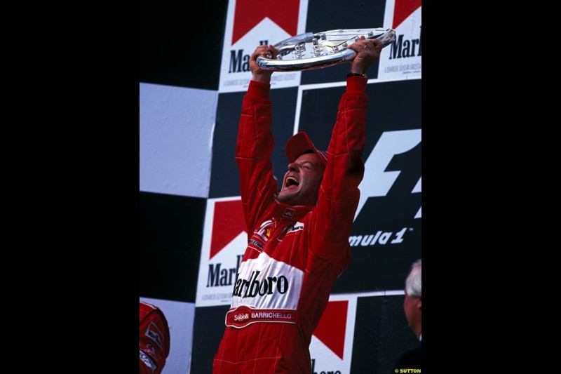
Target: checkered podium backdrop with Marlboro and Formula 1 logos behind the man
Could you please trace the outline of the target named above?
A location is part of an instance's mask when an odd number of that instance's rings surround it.
[[[186,321],[172,329],[172,345],[181,348],[163,374],[211,373],[224,331],[248,239],[234,149],[250,53],[304,32],[370,27],[396,29],[396,41],[367,72],[365,178],[351,265],[335,283],[310,351],[313,373],[388,373],[415,342],[403,286],[421,258],[421,2],[208,5],[212,22],[204,29],[185,22],[189,4],[141,6],[140,297],[162,300],[174,321],[182,314]],[[201,42],[188,53],[194,35]],[[327,148],[348,71],[344,63],[273,74],[279,179],[293,133],[306,131]],[[193,305],[194,314],[185,312]]]

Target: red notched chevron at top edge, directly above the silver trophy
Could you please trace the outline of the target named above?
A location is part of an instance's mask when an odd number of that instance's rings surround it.
[[[234,11],[232,45],[265,17],[269,17],[290,36],[295,36],[298,29],[299,9],[300,0],[237,0]]]

